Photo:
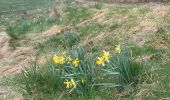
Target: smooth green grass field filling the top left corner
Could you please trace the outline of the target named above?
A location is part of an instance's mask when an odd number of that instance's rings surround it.
[[[0,14],[18,13],[50,6],[54,0],[1,0]]]

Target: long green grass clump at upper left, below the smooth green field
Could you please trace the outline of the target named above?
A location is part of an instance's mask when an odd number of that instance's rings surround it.
[[[50,26],[59,23],[59,18],[53,22],[47,20],[45,17],[38,17],[35,20],[24,18],[14,24],[8,25],[6,27],[6,33],[12,39],[21,39],[28,32],[42,32],[47,30]]]

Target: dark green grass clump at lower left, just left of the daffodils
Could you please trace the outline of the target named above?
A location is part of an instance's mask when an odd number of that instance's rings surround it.
[[[63,87],[63,80],[59,76],[55,64],[47,61],[41,67],[34,63],[30,68],[23,69],[18,82],[26,97],[46,94],[56,98]]]

